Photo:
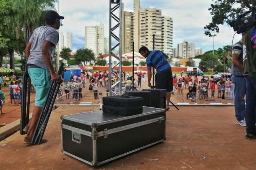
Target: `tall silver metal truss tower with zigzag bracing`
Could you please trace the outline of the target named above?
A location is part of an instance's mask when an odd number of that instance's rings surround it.
[[[121,18],[122,0],[109,0],[109,93],[111,96],[122,95]],[[118,55],[114,53],[117,50],[119,51]],[[117,79],[113,85],[112,77]]]

